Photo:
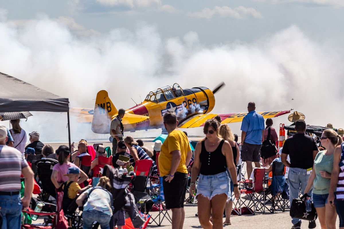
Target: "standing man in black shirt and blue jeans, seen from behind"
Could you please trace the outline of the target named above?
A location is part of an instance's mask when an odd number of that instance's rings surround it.
[[[295,123],[296,134],[287,138],[284,142],[281,160],[283,164],[289,167],[289,196],[290,204],[294,198],[299,198],[301,189],[302,195],[307,186],[308,178],[312,172],[314,158],[318,153],[318,147],[314,138],[305,134],[306,123],[299,120]],[[287,156],[290,162],[287,161]],[[311,193],[308,193],[311,195]],[[292,218],[292,229],[301,228],[301,220]],[[315,221],[310,221],[308,228],[315,228]]]

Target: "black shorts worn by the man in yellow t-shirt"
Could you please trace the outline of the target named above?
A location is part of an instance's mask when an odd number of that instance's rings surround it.
[[[175,172],[171,183],[163,177],[165,204],[167,209],[184,207],[185,193],[187,188],[187,173]]]

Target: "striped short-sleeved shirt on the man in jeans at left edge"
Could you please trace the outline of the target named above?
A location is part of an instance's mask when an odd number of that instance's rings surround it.
[[[20,191],[20,175],[26,166],[28,166],[28,162],[19,150],[0,145],[0,191]]]

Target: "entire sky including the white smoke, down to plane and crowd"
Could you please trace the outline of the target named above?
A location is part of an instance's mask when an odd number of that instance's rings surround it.
[[[224,81],[214,112],[245,112],[253,100],[257,111],[293,108],[307,123],[344,127],[344,1],[0,2],[0,72],[71,107],[93,108],[99,90],[129,108],[130,98],[166,84],[212,89]],[[64,136],[64,120],[43,124],[60,114],[34,115],[27,131]],[[72,125],[75,136],[80,128]]]

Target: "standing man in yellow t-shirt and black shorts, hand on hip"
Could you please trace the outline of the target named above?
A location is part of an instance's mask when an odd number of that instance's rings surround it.
[[[169,133],[159,154],[160,176],[166,208],[172,210],[172,229],[182,229],[184,224],[184,200],[187,188],[187,170],[192,152],[186,135],[178,130],[175,112],[164,114],[164,126]]]

